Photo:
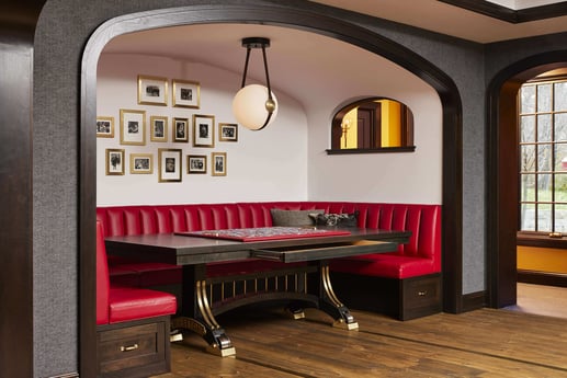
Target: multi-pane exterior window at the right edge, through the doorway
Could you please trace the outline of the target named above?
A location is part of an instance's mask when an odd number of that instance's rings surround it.
[[[520,231],[567,232],[567,78],[520,90]]]

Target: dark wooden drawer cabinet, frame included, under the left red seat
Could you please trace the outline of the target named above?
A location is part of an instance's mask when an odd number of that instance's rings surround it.
[[[169,317],[97,328],[98,377],[148,377],[170,370]]]

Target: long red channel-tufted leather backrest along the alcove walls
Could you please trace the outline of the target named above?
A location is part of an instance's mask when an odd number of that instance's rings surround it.
[[[267,202],[230,204],[146,205],[99,207],[97,219],[109,236],[166,233],[272,226],[270,209],[359,211],[359,226],[409,230],[410,242],[398,253],[433,259],[441,270],[441,206],[351,202]]]

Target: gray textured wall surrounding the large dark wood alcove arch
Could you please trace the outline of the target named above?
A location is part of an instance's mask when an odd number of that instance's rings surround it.
[[[214,5],[229,1],[48,0],[37,25],[34,59],[34,370],[45,377],[78,368],[78,146],[81,54],[105,20],[150,9]],[[267,4],[270,1],[233,1]],[[272,1],[277,3],[277,1]],[[280,3],[280,5],[282,5]],[[304,1],[286,7],[325,8]],[[330,12],[330,10],[329,10]],[[373,28],[449,73],[464,107],[464,293],[483,290],[484,54],[476,44],[423,33],[352,13],[341,15]]]

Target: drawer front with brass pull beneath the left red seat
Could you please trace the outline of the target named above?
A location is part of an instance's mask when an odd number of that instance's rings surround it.
[[[165,362],[165,343],[163,322],[99,331],[99,374]]]

